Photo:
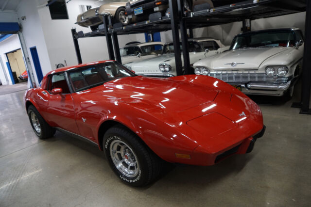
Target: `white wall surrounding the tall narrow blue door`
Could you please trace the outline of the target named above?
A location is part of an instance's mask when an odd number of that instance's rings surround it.
[[[41,27],[36,0],[22,0],[17,9],[17,16],[19,17],[19,23],[22,27],[22,34],[24,36],[27,46],[32,71],[35,75],[36,85],[38,85],[39,82],[35,74],[35,67],[32,57],[30,55],[30,48],[35,46],[37,49],[43,75],[51,71],[52,67],[50,63],[48,49],[46,46],[46,41]],[[26,16],[26,19],[21,20],[21,16]]]

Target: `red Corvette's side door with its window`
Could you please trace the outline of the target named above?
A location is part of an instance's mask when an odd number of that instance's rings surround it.
[[[70,94],[64,72],[50,75],[48,81],[47,119],[52,123],[52,126],[79,134],[75,120],[73,98]],[[63,93],[53,95],[51,91],[54,88],[61,88]]]

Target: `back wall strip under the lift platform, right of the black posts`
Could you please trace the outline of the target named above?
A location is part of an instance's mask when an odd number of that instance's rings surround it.
[[[305,29],[306,13],[296,13],[292,15],[276,16],[271,18],[256,19],[251,21],[251,30],[263,30],[281,27],[298,27],[303,32]],[[193,30],[194,37],[213,37],[220,39],[225,45],[230,45],[233,37],[241,33],[242,22],[198,28]]]

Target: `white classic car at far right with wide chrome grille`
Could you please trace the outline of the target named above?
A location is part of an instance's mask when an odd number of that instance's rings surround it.
[[[293,96],[303,48],[298,28],[245,32],[234,37],[228,51],[195,63],[194,72],[223,80],[245,94]]]

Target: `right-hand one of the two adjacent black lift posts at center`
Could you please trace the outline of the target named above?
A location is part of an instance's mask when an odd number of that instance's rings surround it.
[[[188,36],[187,36],[187,26],[186,21],[182,18],[184,13],[184,0],[178,0],[178,16],[179,16],[179,27],[180,27],[180,34],[181,34],[181,45],[183,51],[183,58],[184,58],[184,74],[190,74],[190,58],[189,58],[189,48],[188,48]],[[176,56],[175,56],[176,57]],[[178,74],[177,74],[178,75]]]

